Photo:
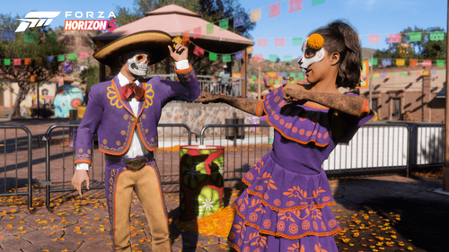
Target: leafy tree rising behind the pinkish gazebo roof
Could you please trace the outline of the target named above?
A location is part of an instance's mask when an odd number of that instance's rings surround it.
[[[129,22],[135,22],[145,17],[145,13],[149,13],[168,4],[177,4],[194,13],[201,14],[201,18],[207,22],[217,22],[219,20],[230,18],[234,14],[245,13],[244,23],[242,26],[233,29],[233,18],[229,19],[228,30],[251,39],[250,31],[256,27],[255,22],[251,22],[248,10],[245,10],[238,0],[134,0],[133,10],[126,7],[117,7],[117,24],[125,25]],[[218,25],[218,23],[216,23]],[[208,60],[207,53],[205,56],[196,56],[193,54],[194,46],[189,46],[189,63],[193,65],[198,74],[216,74],[223,66],[221,59],[211,64]],[[219,57],[220,58],[220,57]],[[154,66],[152,74],[165,74],[166,60]],[[172,67],[171,67],[172,69]]]

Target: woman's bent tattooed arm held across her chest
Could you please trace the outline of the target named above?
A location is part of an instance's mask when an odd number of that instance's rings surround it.
[[[291,89],[289,93],[297,100],[311,100],[351,116],[364,117],[369,113],[369,109],[365,109],[365,97],[363,96]]]

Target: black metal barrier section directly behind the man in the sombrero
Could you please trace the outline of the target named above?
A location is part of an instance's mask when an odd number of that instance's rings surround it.
[[[42,141],[45,142],[46,146],[46,180],[40,182],[40,185],[46,187],[45,196],[48,211],[51,210],[50,194],[52,192],[75,191],[75,188],[72,187],[70,181],[73,174],[75,173],[75,135],[76,128],[78,126],[79,124],[53,125],[48,128],[46,135],[42,137]],[[177,156],[173,155],[176,148],[176,145],[173,142],[173,128],[185,128],[189,135],[188,137],[181,137],[181,134],[177,134],[179,138],[178,145],[191,144],[191,131],[189,129],[189,126],[183,124],[160,124],[158,125],[158,130],[161,127],[162,132],[159,134],[158,139],[159,149],[154,152],[154,156],[156,162],[158,163],[158,169],[160,170],[163,184],[176,184],[179,183],[179,180],[173,180],[173,178],[179,178],[179,173],[177,169],[176,173],[173,174],[173,167],[177,167],[178,165],[174,166],[173,163],[179,162],[180,158],[179,154]],[[168,127],[170,127],[171,130],[167,130]],[[170,139],[166,140],[165,135],[171,135]],[[183,141],[181,141],[181,139]],[[59,149],[59,152],[57,152],[57,154],[52,154],[52,152],[50,152],[50,143],[61,143],[61,146],[57,148]],[[91,182],[90,189],[104,188],[104,154],[98,149],[97,144],[97,140],[94,139],[94,141],[92,142],[92,165],[88,171]],[[170,160],[169,158],[166,159],[165,152],[171,152]],[[50,160],[58,161],[57,165],[54,165],[55,167],[52,168],[50,166]],[[160,163],[162,163],[162,166],[160,165]],[[167,167],[169,166],[167,164],[170,164],[170,170],[167,169]],[[70,168],[71,172],[66,172],[66,169]],[[95,177],[95,174],[97,174],[97,177],[98,174],[100,174],[100,178]],[[56,179],[54,179],[55,177]],[[85,189],[85,187],[83,189]]]

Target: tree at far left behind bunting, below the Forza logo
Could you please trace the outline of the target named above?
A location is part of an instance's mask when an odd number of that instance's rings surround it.
[[[19,17],[12,17],[11,14],[0,14],[0,29],[15,30],[19,25]],[[18,83],[16,99],[13,103],[13,113],[10,117],[20,118],[20,105],[36,83],[48,82],[49,79],[59,73],[59,64],[55,59],[47,62],[47,56],[56,56],[67,52],[63,41],[47,39],[47,34],[51,32],[48,28],[33,28],[28,31],[37,33],[36,43],[24,41],[24,32],[15,33],[15,41],[0,40],[0,58],[11,59],[11,65],[0,65],[0,81],[6,85]],[[49,36],[48,36],[49,37]],[[31,65],[13,65],[14,58],[31,58]],[[40,58],[40,60],[39,60]],[[31,75],[35,75],[35,83],[31,82]]]

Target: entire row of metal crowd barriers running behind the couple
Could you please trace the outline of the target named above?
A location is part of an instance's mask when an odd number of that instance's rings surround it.
[[[52,192],[75,191],[71,178],[75,172],[75,135],[78,124],[50,126],[45,142],[45,178],[40,186],[46,188],[46,205],[51,207]],[[4,173],[0,196],[27,195],[29,208],[32,206],[32,139],[25,126],[0,126],[0,146],[4,147],[4,161],[0,161],[0,174]],[[22,134],[17,130],[21,129]],[[7,131],[13,130],[15,134]],[[173,134],[186,130],[188,136]],[[183,124],[158,125],[159,148],[154,152],[163,185],[178,184],[179,147],[191,145],[192,133]],[[176,132],[175,132],[176,133]],[[199,143],[197,142],[199,138]],[[220,145],[225,147],[225,180],[238,180],[251,169],[260,158],[271,151],[273,128],[267,124],[258,125],[207,125],[201,129],[195,140],[200,145]],[[39,139],[38,139],[39,140]],[[3,142],[3,144],[2,144]],[[445,151],[444,124],[374,124],[361,127],[348,144],[339,144],[330,152],[322,168],[334,174],[403,171],[421,167],[443,166]],[[40,144],[40,141],[38,141]],[[92,143],[92,167],[89,169],[90,188],[104,188],[104,156]],[[1,149],[0,149],[1,150]],[[25,157],[26,156],[26,157]],[[27,172],[24,169],[27,167]],[[42,176],[41,176],[42,177]],[[26,183],[23,183],[26,181]],[[26,185],[26,186],[25,186]],[[27,187],[27,192],[18,192],[19,187]],[[3,189],[3,190],[2,190]]]

